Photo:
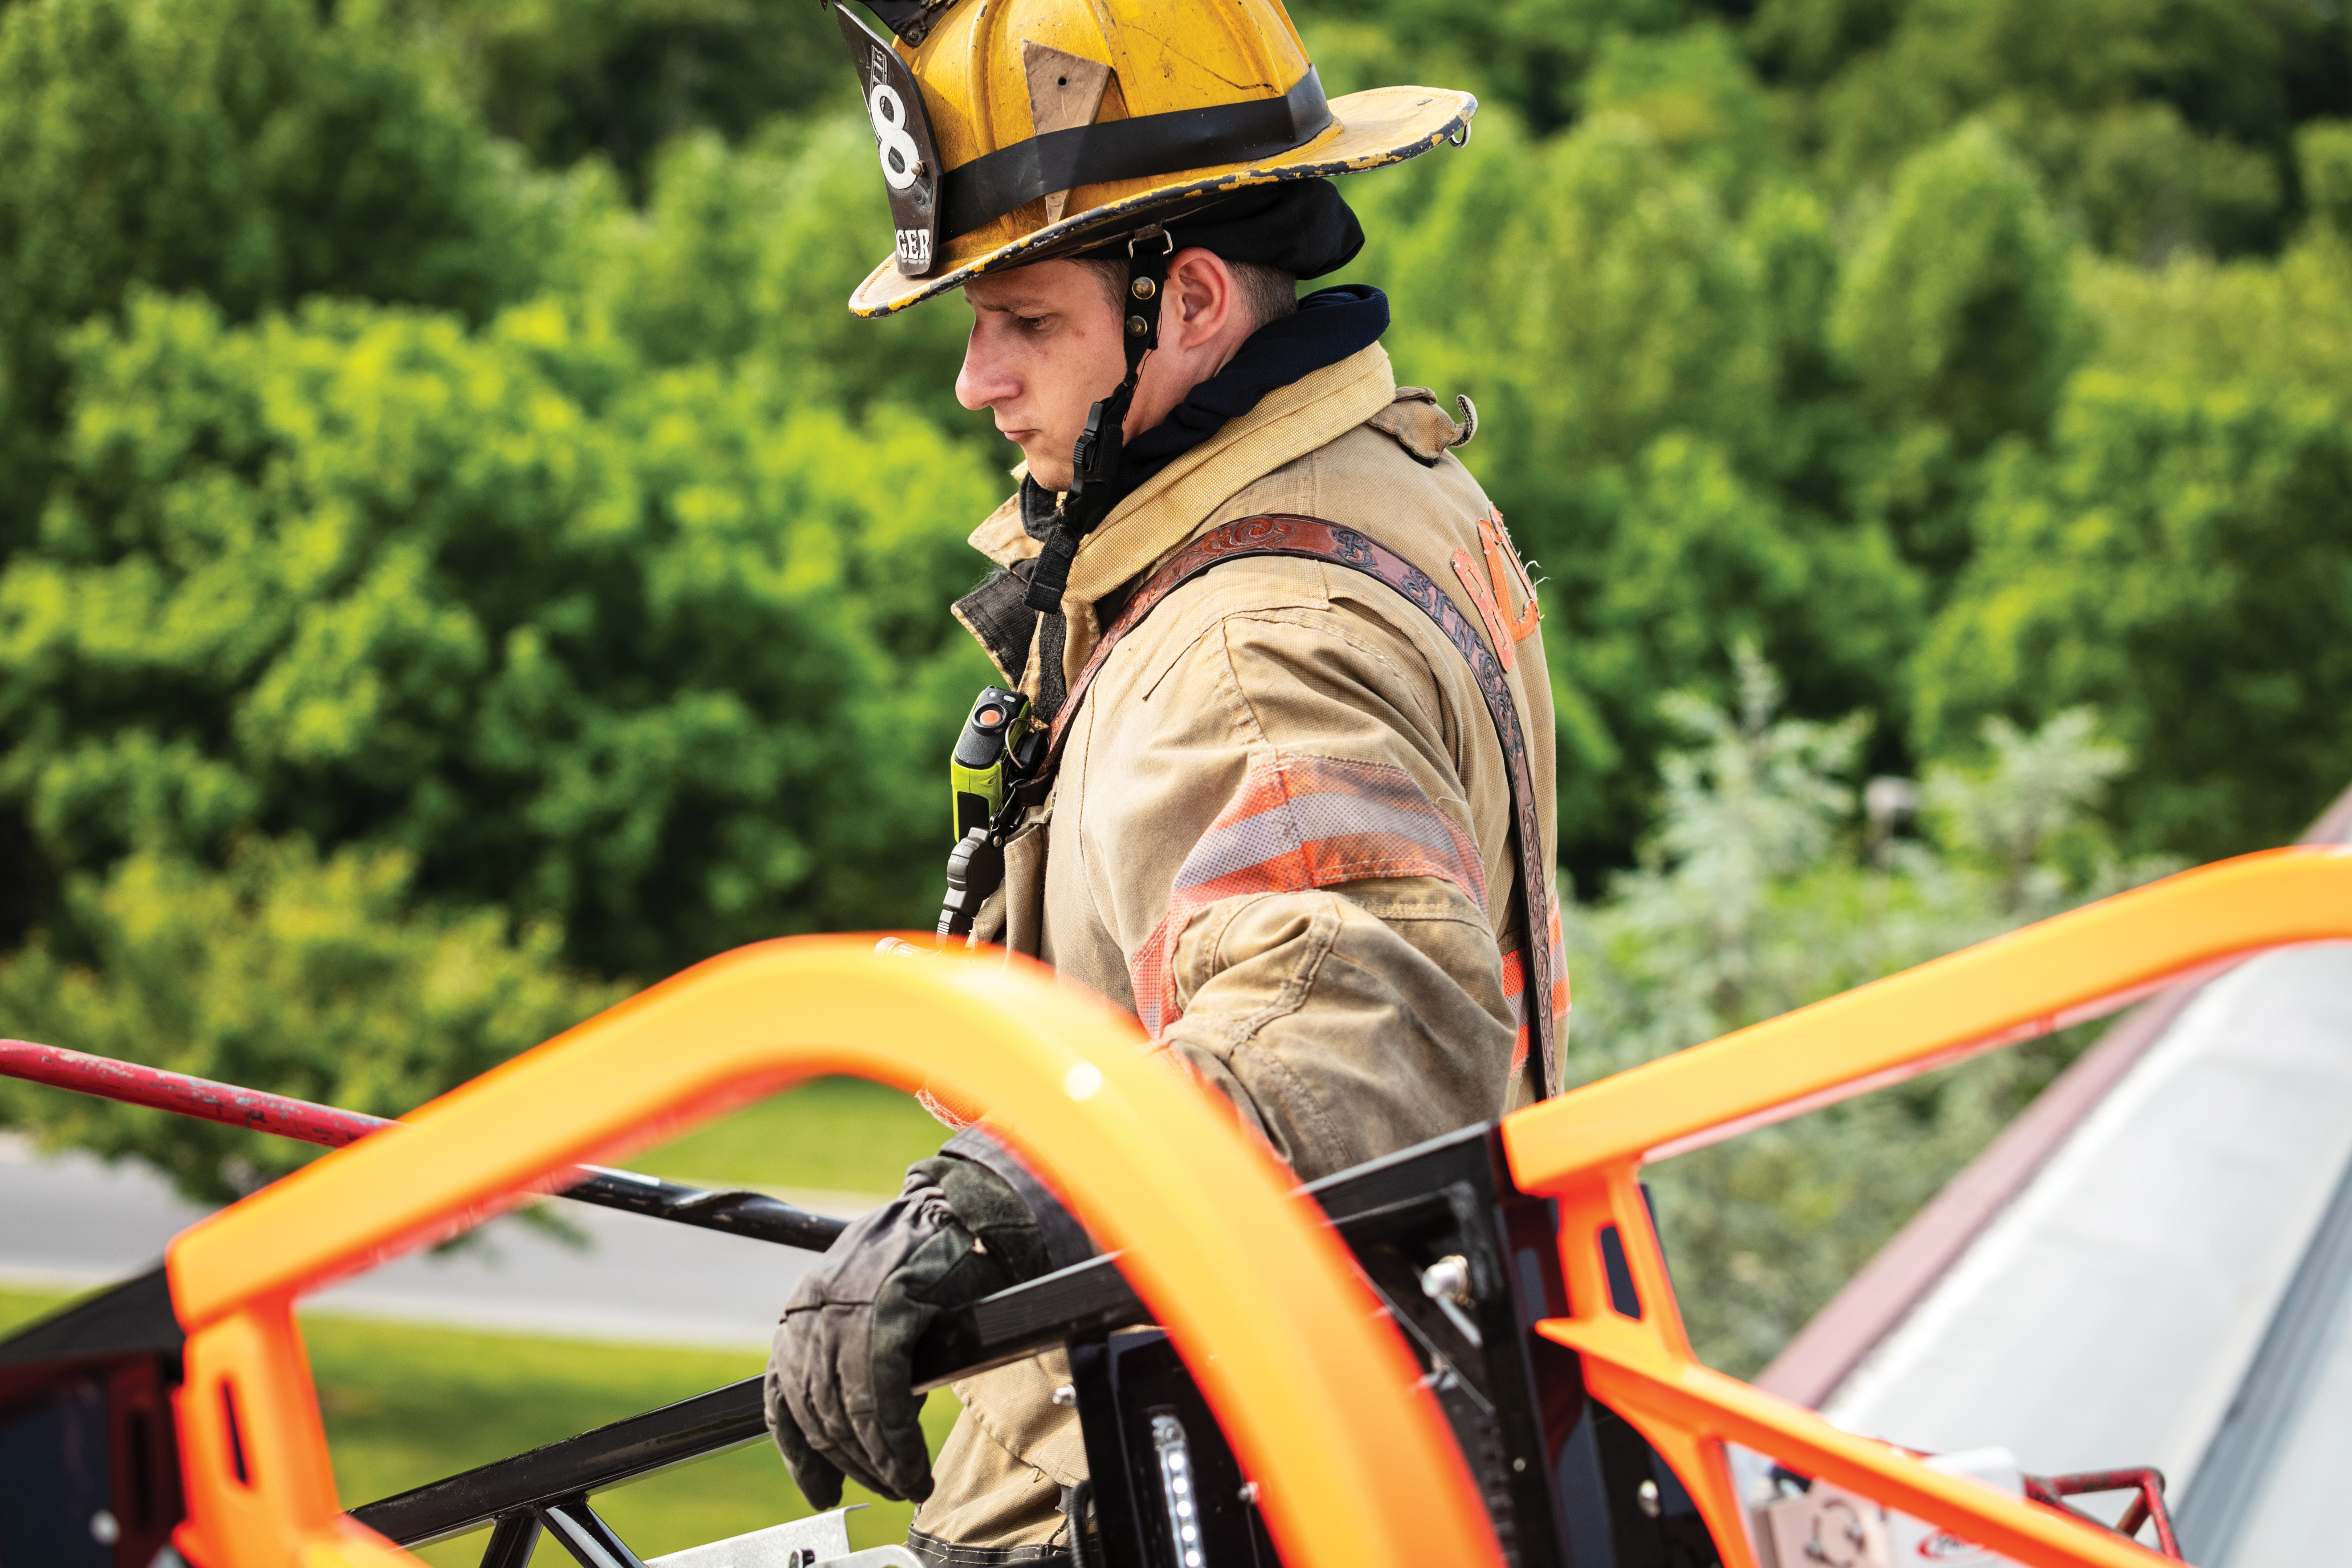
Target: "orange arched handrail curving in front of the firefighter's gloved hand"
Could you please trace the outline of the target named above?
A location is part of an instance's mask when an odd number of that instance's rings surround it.
[[[793,938],[701,964],[183,1232],[179,1429],[198,1568],[416,1559],[339,1512],[294,1298],[447,1237],[550,1173],[797,1079],[985,1105],[1167,1326],[1301,1568],[1501,1563],[1444,1418],[1345,1248],[1230,1107],[1136,1023],[1000,957]],[[781,1302],[779,1302],[781,1305]]]

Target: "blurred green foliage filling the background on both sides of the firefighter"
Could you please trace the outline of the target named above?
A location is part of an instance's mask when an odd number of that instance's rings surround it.
[[[1541,564],[1595,1063],[2056,907],[2044,872],[2279,842],[2352,776],[2343,14],[1298,21],[1334,92],[1486,103],[1348,181],[1348,277],[1404,381],[1477,397]],[[722,947],[927,922],[985,679],[943,604],[1011,458],[953,404],[953,301],[842,310],[889,228],[847,80],[814,5],[0,2],[9,1032],[402,1110]],[[1759,733],[1816,726],[1773,764],[1830,780],[1790,785],[1811,882],[1691,816],[1743,644]],[[1936,877],[1839,849],[1860,776],[2105,757],[2084,705],[2131,766],[2023,863],[1952,870],[1962,806],[1907,839]],[[1675,990],[1750,940],[1656,924],[1705,832],[1766,835],[1757,919],[1818,961]],[[1905,1114],[1962,1147],[2027,1079]],[[207,1194],[289,1159],[49,1105],[0,1117]]]

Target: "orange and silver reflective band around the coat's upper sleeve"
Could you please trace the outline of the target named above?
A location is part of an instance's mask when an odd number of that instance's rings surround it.
[[[1486,907],[1477,844],[1404,769],[1287,755],[1256,764],[1183,858],[1167,917],[1129,961],[1136,1018],[1157,1039],[1183,1016],[1176,940],[1209,905],[1376,877],[1437,877]]]

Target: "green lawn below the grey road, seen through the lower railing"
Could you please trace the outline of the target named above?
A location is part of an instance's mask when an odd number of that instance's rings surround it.
[[[64,1300],[0,1291],[0,1333]],[[336,1316],[306,1316],[303,1338],[346,1505],[760,1371],[760,1356],[739,1352],[529,1340]],[[955,1399],[934,1394],[924,1406],[934,1453],[953,1420]],[[847,1502],[875,1502],[856,1486],[847,1490]],[[604,1493],[597,1512],[640,1556],[656,1556],[795,1519],[809,1507],[762,1441]],[[849,1540],[856,1547],[906,1540],[908,1516],[903,1502],[875,1502],[849,1516]],[[482,1537],[475,1535],[426,1547],[421,1556],[437,1568],[473,1568],[480,1552]],[[560,1547],[541,1544],[536,1563],[569,1568],[572,1559]]]

